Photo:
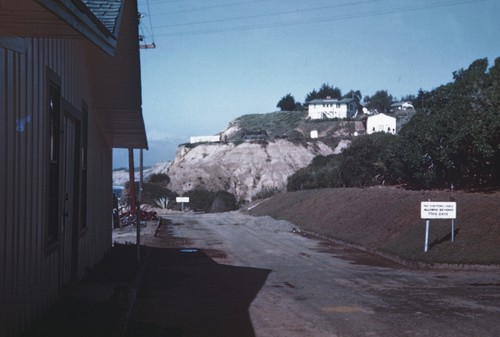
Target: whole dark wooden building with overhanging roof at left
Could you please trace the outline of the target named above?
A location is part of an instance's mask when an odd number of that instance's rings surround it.
[[[0,336],[112,244],[112,149],[147,148],[136,0],[0,2]]]

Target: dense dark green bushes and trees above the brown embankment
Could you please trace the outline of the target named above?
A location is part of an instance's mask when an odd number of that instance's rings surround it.
[[[318,157],[288,190],[361,187],[484,188],[500,185],[500,58],[453,73],[453,81],[415,97],[418,112],[398,136],[353,139],[340,155]]]

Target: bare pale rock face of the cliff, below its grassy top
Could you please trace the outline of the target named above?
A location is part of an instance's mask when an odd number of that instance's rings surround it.
[[[179,194],[203,187],[252,200],[262,190],[285,190],[287,178],[295,171],[317,155],[332,153],[320,141],[304,146],[283,139],[266,145],[245,142],[179,146],[174,162],[164,173],[170,177],[169,188]]]

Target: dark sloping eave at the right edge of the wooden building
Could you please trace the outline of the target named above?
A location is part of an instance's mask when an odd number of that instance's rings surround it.
[[[139,18],[126,0],[114,56],[89,48],[94,110],[115,148],[148,148],[142,115]]]

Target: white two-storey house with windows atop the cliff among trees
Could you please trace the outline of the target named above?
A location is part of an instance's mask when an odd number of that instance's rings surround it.
[[[311,119],[324,118],[352,118],[358,112],[356,100],[353,98],[332,99],[313,99],[308,104],[308,116]]]

